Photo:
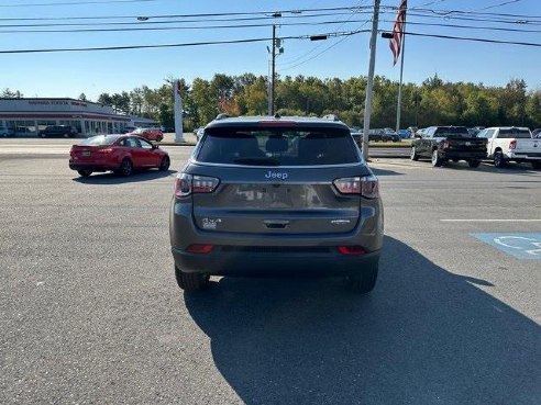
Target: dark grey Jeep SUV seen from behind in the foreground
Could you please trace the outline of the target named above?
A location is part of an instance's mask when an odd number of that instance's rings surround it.
[[[177,176],[169,234],[178,285],[210,275],[340,275],[376,283],[378,180],[340,121],[225,117]]]

